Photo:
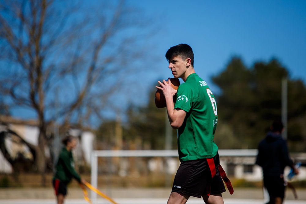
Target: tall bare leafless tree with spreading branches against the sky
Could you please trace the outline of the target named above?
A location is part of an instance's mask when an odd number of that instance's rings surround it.
[[[53,121],[86,124],[119,111],[110,98],[135,75],[150,23],[124,1],[3,0],[0,2],[0,93],[35,111],[39,171]],[[102,10],[101,10],[102,8]],[[131,32],[134,30],[134,32]],[[148,30],[149,31],[149,30]],[[136,35],[136,33],[138,33]],[[135,49],[137,48],[137,49]],[[147,49],[147,48],[146,48]],[[138,67],[139,68],[139,67]]]

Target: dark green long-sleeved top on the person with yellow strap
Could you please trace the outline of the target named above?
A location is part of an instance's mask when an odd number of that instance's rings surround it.
[[[53,179],[58,179],[68,184],[72,178],[75,178],[79,183],[81,182],[80,175],[74,170],[72,152],[63,147],[58,157],[56,172]]]

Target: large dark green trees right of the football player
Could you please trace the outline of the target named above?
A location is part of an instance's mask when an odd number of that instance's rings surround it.
[[[256,62],[251,68],[233,57],[226,69],[212,78],[220,88],[216,143],[221,148],[256,148],[273,120],[281,118],[281,84],[288,78],[288,142],[291,150],[304,151],[303,120],[306,88],[302,81],[290,79],[281,63]],[[229,142],[226,141],[229,137]],[[227,138],[227,139],[225,139]]]

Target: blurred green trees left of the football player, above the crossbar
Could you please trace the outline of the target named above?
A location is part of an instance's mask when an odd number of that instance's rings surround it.
[[[155,87],[155,85],[152,87]],[[165,108],[156,108],[155,88],[149,92],[149,100],[144,106],[130,104],[127,120],[121,124],[123,149],[164,149],[166,124],[169,124]],[[103,122],[96,131],[100,144],[98,148],[116,148],[116,121]],[[118,127],[117,127],[118,128]],[[172,128],[171,128],[172,129]],[[117,135],[118,136],[118,135]],[[176,131],[172,130],[172,148],[177,147]],[[118,143],[118,141],[117,141]]]

